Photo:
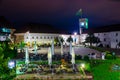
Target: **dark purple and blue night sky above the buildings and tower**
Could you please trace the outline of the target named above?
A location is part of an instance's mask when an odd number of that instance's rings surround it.
[[[36,22],[78,31],[79,9],[89,19],[89,27],[120,23],[120,0],[0,0],[0,16],[16,27]]]

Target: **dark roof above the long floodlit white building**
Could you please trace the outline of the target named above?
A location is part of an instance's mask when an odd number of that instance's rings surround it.
[[[28,23],[23,27],[16,30],[15,33],[58,33],[58,34],[69,34],[67,31],[56,29],[49,24],[39,24],[39,23]]]

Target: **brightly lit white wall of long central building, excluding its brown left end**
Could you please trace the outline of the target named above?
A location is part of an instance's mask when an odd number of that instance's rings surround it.
[[[73,38],[73,44],[79,44],[79,35],[66,35],[66,34],[50,34],[50,33],[26,33],[24,35],[24,42],[30,42],[30,44],[34,41],[36,41],[37,43],[43,44],[43,43],[51,43],[52,39],[56,38],[56,37],[63,37],[64,39],[64,43],[63,44],[67,44],[69,45],[69,43],[67,42],[67,39],[69,36],[71,36]]]

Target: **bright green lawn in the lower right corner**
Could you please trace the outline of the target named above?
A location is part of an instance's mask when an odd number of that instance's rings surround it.
[[[120,64],[120,59],[116,60],[93,60],[91,72],[94,80],[120,80],[120,70],[113,70],[115,64]]]

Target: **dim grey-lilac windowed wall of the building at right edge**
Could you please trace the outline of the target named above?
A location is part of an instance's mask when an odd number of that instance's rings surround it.
[[[100,38],[104,47],[117,48],[120,42],[120,31],[94,33],[94,35]]]

